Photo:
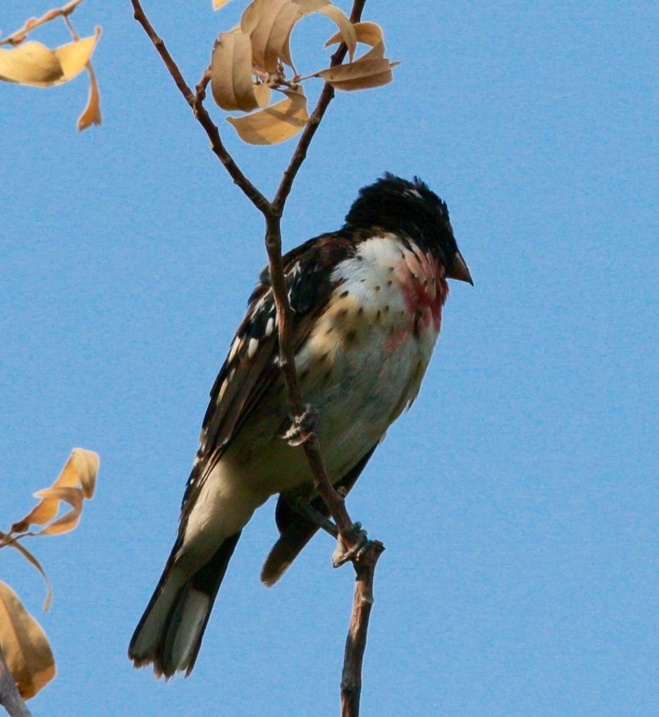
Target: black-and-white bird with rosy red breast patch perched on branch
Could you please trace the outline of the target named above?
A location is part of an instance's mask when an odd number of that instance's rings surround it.
[[[335,488],[345,495],[415,400],[441,328],[448,279],[473,285],[448,207],[423,181],[385,173],[360,189],[341,229],[283,257],[295,366]],[[292,418],[279,365],[266,267],[249,298],[203,419],[178,534],[128,656],[157,678],[190,675],[241,531],[279,494],[270,587],[327,516]],[[297,502],[297,503],[296,503]]]

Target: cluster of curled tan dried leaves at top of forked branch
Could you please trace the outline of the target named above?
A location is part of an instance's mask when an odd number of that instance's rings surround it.
[[[325,47],[345,42],[350,61],[303,77],[294,66],[290,38],[297,22],[313,13],[335,22],[338,32]],[[367,44],[370,49],[355,59],[357,43]],[[365,90],[391,82],[395,65],[398,62],[385,58],[379,25],[353,24],[329,0],[254,0],[242,14],[240,24],[216,40],[211,58],[211,90],[223,110],[251,113],[227,118],[243,141],[276,144],[295,136],[309,121],[301,85],[304,80],[317,77],[336,90]],[[291,77],[287,77],[287,67],[292,70]],[[285,97],[270,105],[273,90]]]

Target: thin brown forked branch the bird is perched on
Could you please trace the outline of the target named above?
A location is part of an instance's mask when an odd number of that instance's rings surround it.
[[[208,111],[203,106],[206,98],[206,87],[211,80],[210,70],[204,72],[201,81],[196,85],[196,93],[193,94],[190,87],[181,75],[181,71],[174,62],[158,34],[148,21],[140,0],[131,0],[135,19],[145,29],[146,34],[163,58],[165,66],[173,77],[176,86],[181,91],[188,105],[202,125],[211,141],[211,150],[216,154],[223,166],[231,175],[234,184],[244,192],[252,204],[263,214],[266,222],[265,244],[268,253],[268,266],[272,283],[272,293],[276,306],[276,317],[279,338],[279,365],[282,369],[284,381],[287,386],[289,406],[292,414],[293,427],[302,435],[302,450],[307,457],[311,467],[314,488],[324,500],[330,515],[335,521],[339,533],[337,553],[333,558],[335,566],[342,565],[345,561],[352,561],[355,566],[356,583],[355,598],[353,602],[352,619],[350,631],[348,632],[343,676],[341,683],[342,715],[343,717],[357,717],[359,714],[361,670],[362,660],[366,647],[366,635],[370,609],[373,602],[372,582],[377,559],[382,554],[384,546],[379,541],[366,541],[365,531],[361,530],[358,523],[353,523],[345,508],[345,500],[332,486],[327,470],[324,466],[318,437],[313,428],[305,425],[305,419],[312,415],[312,407],[304,403],[302,391],[299,386],[297,371],[295,369],[295,353],[292,336],[292,309],[288,299],[286,279],[284,276],[284,263],[282,260],[282,214],[287,198],[292,189],[295,177],[307,156],[307,150],[311,143],[320,120],[334,98],[334,88],[327,82],[320,93],[312,115],[307,126],[299,138],[297,147],[291,161],[282,176],[282,181],[276,191],[274,199],[270,202],[254,184],[242,173],[223,146],[217,125],[213,123]],[[350,13],[351,22],[359,22],[362,16],[366,0],[353,0]],[[345,43],[340,44],[337,52],[332,55],[331,66],[340,65],[345,59],[347,47]]]

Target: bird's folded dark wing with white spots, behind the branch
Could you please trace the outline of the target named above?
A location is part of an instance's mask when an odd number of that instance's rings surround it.
[[[297,351],[309,336],[335,289],[332,269],[352,254],[354,241],[322,234],[284,256],[284,275],[293,310],[293,343]],[[180,531],[213,467],[244,422],[280,375],[276,310],[269,271],[261,272],[249,298],[245,318],[236,331],[229,356],[211,390],[197,452],[181,505]]]

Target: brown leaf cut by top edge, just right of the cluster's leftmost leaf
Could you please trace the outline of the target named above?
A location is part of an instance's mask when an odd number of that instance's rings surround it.
[[[269,0],[256,11],[261,15],[250,33],[254,67],[276,72],[279,60],[293,67],[289,40],[295,23],[302,19],[302,9],[292,0]]]

